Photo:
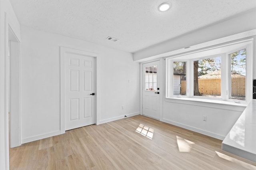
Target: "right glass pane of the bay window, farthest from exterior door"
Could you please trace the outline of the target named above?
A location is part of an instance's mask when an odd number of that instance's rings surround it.
[[[245,100],[246,49],[230,54],[231,99]]]

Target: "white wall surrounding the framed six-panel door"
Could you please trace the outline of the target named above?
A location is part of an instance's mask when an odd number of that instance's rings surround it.
[[[140,67],[131,53],[24,26],[21,37],[22,143],[60,134],[60,46],[99,54],[98,123],[139,114]]]

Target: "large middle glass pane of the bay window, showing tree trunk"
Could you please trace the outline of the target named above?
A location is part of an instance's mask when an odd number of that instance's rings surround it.
[[[194,96],[221,97],[221,57],[194,61]]]

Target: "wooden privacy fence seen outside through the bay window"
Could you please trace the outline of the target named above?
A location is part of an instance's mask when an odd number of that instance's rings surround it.
[[[245,77],[231,78],[231,95],[245,96]],[[186,94],[186,80],[180,82],[181,94]],[[204,95],[220,95],[220,79],[198,79],[198,89]]]

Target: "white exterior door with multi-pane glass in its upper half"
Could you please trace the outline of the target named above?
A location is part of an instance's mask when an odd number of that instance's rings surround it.
[[[160,61],[142,64],[142,114],[160,119],[159,95]]]

